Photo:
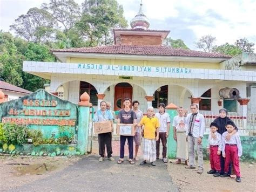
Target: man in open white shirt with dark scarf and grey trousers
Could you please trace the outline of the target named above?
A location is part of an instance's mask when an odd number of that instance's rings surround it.
[[[187,141],[188,141],[188,160],[190,162],[189,166],[186,166],[187,169],[194,169],[195,159],[194,159],[194,146],[197,148],[198,156],[198,170],[197,173],[204,172],[204,161],[203,161],[203,143],[202,139],[205,132],[205,118],[204,115],[198,112],[198,105],[190,105],[191,113],[186,117],[187,124]]]

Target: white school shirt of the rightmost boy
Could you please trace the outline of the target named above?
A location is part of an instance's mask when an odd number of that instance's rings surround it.
[[[241,143],[239,134],[235,133],[234,135],[231,136],[230,140],[228,141],[225,139],[227,134],[228,134],[227,132],[224,132],[222,134],[222,143],[223,143],[222,154],[225,154],[226,144],[236,144],[238,148],[238,156],[239,157],[242,156],[242,143]]]

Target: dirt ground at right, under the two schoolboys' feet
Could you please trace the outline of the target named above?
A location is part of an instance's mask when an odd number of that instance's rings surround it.
[[[185,169],[184,164],[169,163],[168,170],[180,191],[256,191],[256,165],[253,162],[240,163],[241,183],[230,177],[207,174],[209,161],[204,162],[203,174],[198,174],[197,169]]]

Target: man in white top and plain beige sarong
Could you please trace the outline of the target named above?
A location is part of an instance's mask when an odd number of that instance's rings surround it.
[[[177,143],[177,153],[176,153],[176,164],[180,164],[181,161],[185,161],[187,164],[188,159],[188,147],[187,147],[187,127],[185,125],[185,116],[184,116],[184,108],[177,108],[178,115],[173,118],[173,139]]]

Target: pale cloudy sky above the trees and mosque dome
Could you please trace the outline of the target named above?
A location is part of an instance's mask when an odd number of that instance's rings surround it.
[[[49,1],[0,0],[0,30],[9,31],[19,15],[30,8],[40,8],[44,2]],[[140,0],[117,2],[123,5],[124,16],[130,23],[139,11]],[[244,37],[256,44],[256,0],[143,0],[142,3],[151,23],[149,29],[170,30],[169,37],[183,39],[190,49],[196,50],[194,42],[204,35],[216,37],[216,45],[234,44],[236,39]]]

